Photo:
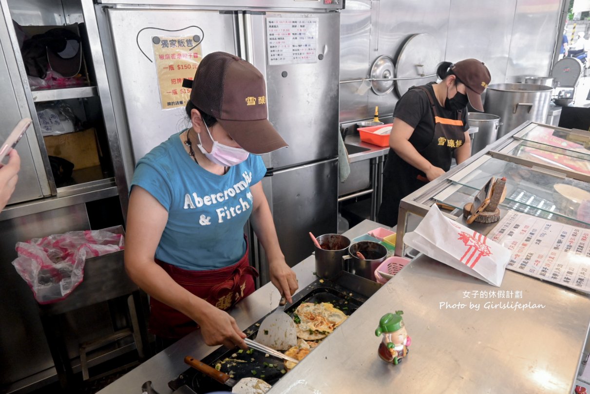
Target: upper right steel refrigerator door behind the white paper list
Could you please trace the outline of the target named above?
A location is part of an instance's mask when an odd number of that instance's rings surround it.
[[[266,27],[268,18],[318,19],[314,63],[268,65],[266,28],[260,27]],[[275,169],[338,154],[339,21],[336,12],[252,15],[254,65],[266,71],[268,117],[289,144],[270,153],[270,166]]]

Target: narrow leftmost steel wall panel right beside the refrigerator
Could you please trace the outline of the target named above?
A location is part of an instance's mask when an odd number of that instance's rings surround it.
[[[346,2],[340,15],[340,80],[369,76],[371,51],[371,0]],[[374,56],[376,58],[376,56]],[[340,122],[363,119],[368,110],[369,93],[360,94],[360,82],[340,84]],[[373,96],[376,96],[373,94]],[[388,94],[386,97],[391,98]]]

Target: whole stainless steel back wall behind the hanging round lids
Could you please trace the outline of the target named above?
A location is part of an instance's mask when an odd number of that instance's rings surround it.
[[[348,1],[341,17],[340,79],[367,77],[370,65],[382,54],[394,56],[395,61],[405,39],[416,33],[434,36],[444,60],[481,59],[490,68],[493,83],[513,82],[525,74],[546,75],[562,5],[563,0]],[[371,11],[366,11],[367,7]],[[362,9],[365,18],[371,19],[369,15],[373,14],[368,28],[355,23]],[[356,57],[352,57],[346,48],[355,47],[357,42],[368,42],[369,51],[357,51]],[[366,58],[362,58],[365,54]],[[362,64],[366,64],[364,70]],[[375,106],[379,106],[380,115],[393,112],[398,100],[395,93],[377,96],[369,90],[358,96],[353,92],[359,85],[340,84],[340,123],[369,119]]]

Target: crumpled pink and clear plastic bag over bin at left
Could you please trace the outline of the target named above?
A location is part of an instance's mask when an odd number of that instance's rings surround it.
[[[63,300],[84,277],[86,258],[124,248],[121,226],[101,230],[71,231],[17,242],[12,261],[40,304]]]

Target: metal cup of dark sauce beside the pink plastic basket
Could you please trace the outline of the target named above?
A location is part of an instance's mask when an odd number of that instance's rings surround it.
[[[361,252],[364,259],[356,256]],[[387,257],[387,248],[373,241],[359,241],[350,245],[348,254],[342,257],[342,265],[345,271],[360,277],[376,281],[375,270]]]

